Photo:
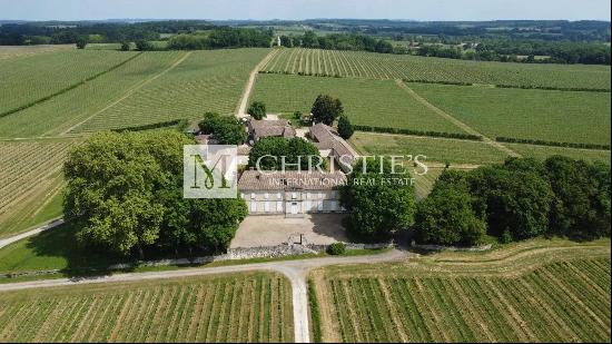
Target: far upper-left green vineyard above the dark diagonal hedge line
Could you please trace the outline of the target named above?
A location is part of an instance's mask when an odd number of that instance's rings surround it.
[[[0,114],[108,70],[135,53],[59,50],[4,60],[0,63]]]

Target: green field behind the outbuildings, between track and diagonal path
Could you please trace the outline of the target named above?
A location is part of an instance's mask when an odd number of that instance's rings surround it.
[[[258,75],[250,99],[264,101],[270,114],[309,114],[320,94],[338,97],[345,114],[357,125],[463,132],[393,80]]]

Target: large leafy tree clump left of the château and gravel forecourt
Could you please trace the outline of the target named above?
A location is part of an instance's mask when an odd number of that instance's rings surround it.
[[[150,247],[227,247],[246,216],[231,199],[182,197],[182,146],[193,139],[169,130],[102,132],[75,148],[65,164],[65,219],[87,247],[145,257]]]

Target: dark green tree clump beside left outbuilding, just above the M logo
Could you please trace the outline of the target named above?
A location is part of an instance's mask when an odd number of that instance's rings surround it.
[[[239,146],[247,139],[245,126],[235,117],[207,112],[198,126],[204,134],[213,135],[221,145]]]

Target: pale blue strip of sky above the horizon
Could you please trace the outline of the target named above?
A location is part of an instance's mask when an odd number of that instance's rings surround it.
[[[596,19],[610,0],[0,0],[0,20]]]

